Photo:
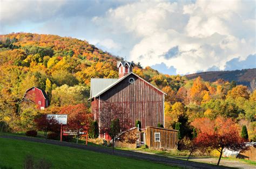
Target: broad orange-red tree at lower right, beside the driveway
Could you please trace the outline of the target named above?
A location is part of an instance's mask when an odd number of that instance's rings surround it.
[[[196,142],[201,146],[220,152],[218,164],[224,148],[233,151],[245,149],[245,140],[239,135],[238,125],[231,118],[217,117],[215,121],[209,118],[197,118],[191,123],[198,129]]]

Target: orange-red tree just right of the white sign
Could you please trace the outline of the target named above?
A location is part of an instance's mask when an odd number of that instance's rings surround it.
[[[93,115],[84,104],[66,105],[60,109],[60,114],[68,115],[68,124],[65,129],[77,133],[78,143],[79,132],[89,129]]]

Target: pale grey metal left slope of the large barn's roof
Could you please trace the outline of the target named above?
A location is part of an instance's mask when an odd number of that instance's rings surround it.
[[[100,91],[102,91],[106,87],[112,85],[116,81],[118,81],[118,79],[92,78],[91,79],[90,98],[95,97]]]

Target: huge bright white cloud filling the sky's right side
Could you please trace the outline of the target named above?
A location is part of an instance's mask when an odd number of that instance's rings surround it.
[[[253,9],[253,2],[241,1],[143,1],[110,9],[93,21],[119,36],[129,33],[138,37],[130,60],[144,66],[163,62],[176,68],[177,73],[187,74],[213,66],[223,70],[227,61],[238,57],[245,60],[254,54]],[[176,46],[178,53],[166,58],[165,53]]]

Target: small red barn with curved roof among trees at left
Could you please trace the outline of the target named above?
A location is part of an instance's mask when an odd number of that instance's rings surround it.
[[[45,91],[37,87],[31,87],[26,90],[22,101],[33,102],[41,110],[49,106],[49,98]]]

